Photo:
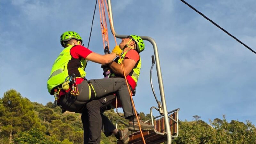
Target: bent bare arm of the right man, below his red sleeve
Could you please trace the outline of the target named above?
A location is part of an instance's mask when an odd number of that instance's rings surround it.
[[[136,61],[133,59],[124,59],[123,60],[124,72],[125,72],[126,76],[132,71],[135,64],[136,64]],[[109,67],[116,75],[124,76],[121,64],[118,64],[113,61],[109,64]]]

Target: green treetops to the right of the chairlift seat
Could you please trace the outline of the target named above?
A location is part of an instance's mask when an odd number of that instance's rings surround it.
[[[202,120],[179,121],[179,136],[173,140],[174,144],[254,144],[256,142],[256,128],[250,121],[246,124],[232,120],[228,123],[214,119],[210,125]]]

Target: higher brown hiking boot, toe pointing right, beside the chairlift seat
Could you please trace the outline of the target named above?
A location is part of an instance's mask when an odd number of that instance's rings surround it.
[[[149,130],[154,130],[155,129],[155,127],[153,125],[146,124],[141,120],[139,120],[139,122],[140,122],[141,130],[149,131]],[[129,122],[129,128],[128,129],[129,129],[129,131],[140,131],[138,121],[133,120],[133,121]]]

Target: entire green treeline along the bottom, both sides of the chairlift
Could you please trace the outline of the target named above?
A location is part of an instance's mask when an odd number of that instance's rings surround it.
[[[105,115],[115,123],[122,119],[113,110]],[[140,113],[143,120],[150,115]],[[194,116],[194,121],[179,121],[179,137],[174,144],[256,144],[256,128],[250,122],[232,120],[228,123],[223,116],[210,124]],[[124,125],[119,125],[123,129]],[[52,102],[45,106],[30,102],[16,90],[9,90],[0,99],[0,143],[8,144],[82,144],[83,126],[81,115],[54,108]],[[106,138],[102,133],[101,144],[115,144],[114,136]]]

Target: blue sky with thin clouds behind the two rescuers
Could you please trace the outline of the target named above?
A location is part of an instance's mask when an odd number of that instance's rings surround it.
[[[187,2],[256,50],[255,1]],[[84,0],[1,0],[0,97],[15,89],[32,102],[53,102],[46,81],[62,51],[60,35],[76,31],[87,46],[94,4]],[[254,53],[179,0],[112,1],[112,9],[118,34],[150,36],[156,41],[168,111],[180,108],[181,120],[198,115],[208,122],[225,114],[228,121],[256,124]],[[109,38],[113,48],[110,31]],[[149,113],[157,104],[149,80],[154,52],[145,43],[134,101],[138,111]],[[103,54],[98,9],[89,48]],[[86,72],[88,79],[103,78],[99,64],[89,62]],[[153,83],[160,100],[156,67]]]

